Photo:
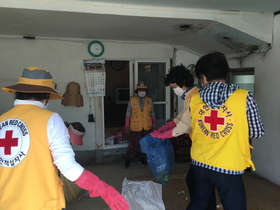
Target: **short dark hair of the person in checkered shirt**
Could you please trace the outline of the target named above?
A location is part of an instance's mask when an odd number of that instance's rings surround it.
[[[202,56],[195,65],[195,74],[198,79],[202,74],[208,81],[227,79],[229,66],[226,56],[221,52],[213,52]]]

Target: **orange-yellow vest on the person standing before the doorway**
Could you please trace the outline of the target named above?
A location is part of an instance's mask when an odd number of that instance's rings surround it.
[[[151,98],[145,96],[143,111],[140,108],[138,96],[130,99],[131,116],[130,116],[130,130],[142,131],[152,129],[151,111],[153,108],[153,101]]]

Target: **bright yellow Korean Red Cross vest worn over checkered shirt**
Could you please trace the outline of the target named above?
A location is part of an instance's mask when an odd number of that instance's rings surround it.
[[[198,162],[233,171],[243,171],[251,161],[249,127],[246,115],[247,90],[237,89],[218,109],[191,98],[191,157]]]

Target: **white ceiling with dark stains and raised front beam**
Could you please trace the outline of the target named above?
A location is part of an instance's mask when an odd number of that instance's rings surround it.
[[[0,36],[161,43],[198,55],[266,52],[279,0],[0,0]]]

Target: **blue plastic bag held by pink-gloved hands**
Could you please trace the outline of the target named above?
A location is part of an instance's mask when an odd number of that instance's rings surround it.
[[[147,154],[148,165],[156,180],[166,186],[170,171],[174,166],[174,150],[169,139],[152,137],[150,134],[140,139],[141,151]]]

